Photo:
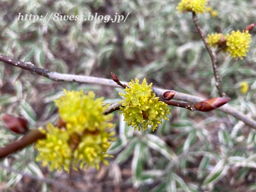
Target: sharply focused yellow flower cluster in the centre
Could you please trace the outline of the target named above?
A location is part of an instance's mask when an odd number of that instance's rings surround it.
[[[153,93],[151,89],[152,83],[148,85],[144,78],[142,84],[139,84],[139,80],[136,78],[135,82],[131,80],[128,83],[129,88],[126,87],[124,91],[126,94],[119,93],[120,96],[124,96],[124,100],[121,101],[119,114],[124,115],[124,121],[128,125],[135,127],[135,130],[142,126],[142,130],[145,131],[148,125],[151,125],[154,131],[158,124],[163,124],[162,119],[167,119],[166,115],[171,114],[170,108],[162,101],[158,101],[158,97]]]

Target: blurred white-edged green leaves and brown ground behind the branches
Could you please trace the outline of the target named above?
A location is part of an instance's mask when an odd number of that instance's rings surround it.
[[[192,13],[179,14],[177,0],[11,0],[0,2],[0,53],[39,68],[59,73],[119,80],[147,78],[148,83],[205,98],[217,97],[212,64],[192,21]],[[255,22],[256,1],[209,1],[218,12],[198,15],[207,34],[242,31]],[[18,20],[19,13],[42,15],[123,15],[125,22],[104,20]],[[53,17],[53,16],[52,16]],[[29,18],[29,17],[28,17]],[[24,18],[25,19],[25,18]],[[219,53],[217,63],[229,104],[255,117],[255,29],[244,60]],[[240,84],[249,90],[241,92]],[[25,116],[31,127],[55,123],[53,100],[63,89],[94,91],[114,103],[122,88],[93,84],[53,82],[29,71],[0,62],[0,115]],[[2,191],[164,192],[164,191],[256,191],[256,132],[233,116],[212,111],[190,112],[172,107],[170,121],[155,132],[133,131],[115,112],[117,140],[109,153],[110,165],[66,172],[50,172],[34,161],[33,146],[1,160]],[[19,136],[0,121],[0,146]],[[33,177],[52,180],[42,182]]]

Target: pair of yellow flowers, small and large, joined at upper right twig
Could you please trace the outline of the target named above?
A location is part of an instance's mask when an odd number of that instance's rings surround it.
[[[237,30],[236,32],[233,30],[231,34],[226,34],[223,36],[221,33],[217,34],[208,34],[208,38],[206,38],[207,43],[215,47],[223,46],[223,43],[227,45],[227,47],[223,50],[224,52],[228,51],[229,56],[233,56],[234,58],[240,57],[243,60],[243,57],[246,56],[246,52],[249,51],[250,43],[252,42],[251,35],[249,31],[240,32]]]

